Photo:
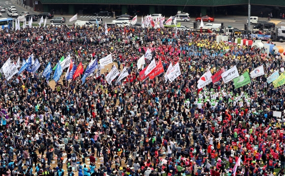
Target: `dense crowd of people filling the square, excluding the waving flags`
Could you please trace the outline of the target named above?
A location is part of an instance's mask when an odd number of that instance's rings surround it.
[[[278,51],[267,56],[264,48],[175,28],[108,31],[65,25],[0,31],[0,65],[32,53],[41,64],[35,73],[0,78],[2,176],[284,176],[285,91],[266,82],[284,72]],[[181,75],[140,80],[137,60],[147,49],[165,72],[179,63]],[[62,76],[51,85],[42,76],[62,56],[86,65],[110,53],[129,73],[117,84],[107,83],[107,68],[83,84]],[[198,92],[201,75],[234,65],[240,75],[263,65],[265,74],[237,89],[221,79]]]

